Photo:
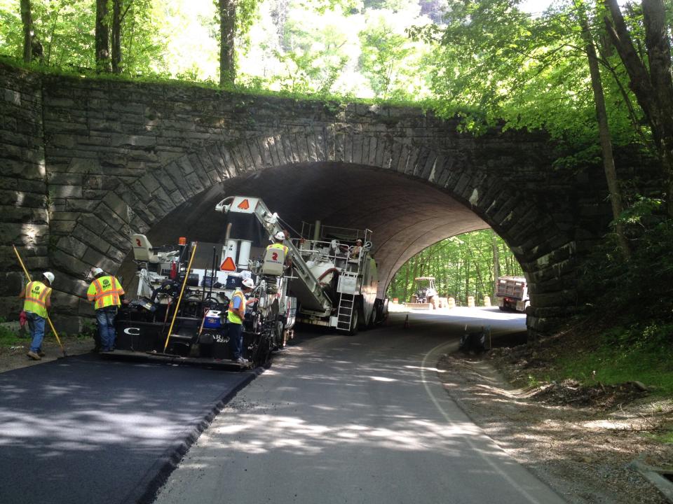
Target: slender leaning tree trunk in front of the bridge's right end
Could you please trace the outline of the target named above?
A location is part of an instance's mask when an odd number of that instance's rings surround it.
[[[587,52],[587,58],[589,60],[591,88],[594,93],[594,104],[596,105],[596,118],[598,120],[598,132],[601,142],[601,153],[603,156],[603,169],[610,193],[612,217],[615,221],[615,230],[617,232],[619,246],[622,249],[625,258],[628,259],[631,257],[629,242],[624,235],[624,226],[618,222],[618,218],[621,216],[624,207],[622,204],[622,192],[617,179],[617,170],[615,169],[615,158],[612,153],[612,139],[610,136],[610,127],[608,125],[608,113],[605,108],[605,95],[603,92],[603,84],[601,83],[601,72],[598,66],[598,58],[596,57],[596,48],[594,47],[594,42],[591,37],[589,23],[587,22],[583,4],[580,1],[575,0],[575,8],[578,10],[582,38],[584,38],[586,44],[585,51]]]

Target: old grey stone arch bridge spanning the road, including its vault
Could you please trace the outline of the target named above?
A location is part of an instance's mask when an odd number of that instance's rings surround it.
[[[576,260],[605,230],[601,183],[552,169],[543,134],[461,133],[420,109],[224,93],[184,84],[41,76],[0,66],[0,316],[22,275],[57,275],[54,312],[93,311],[90,267],[111,272],[130,232],[222,239],[223,195],[258,195],[293,225],[370,228],[384,292],[406,260],[493,228],[530,282],[529,330],[575,308]]]

